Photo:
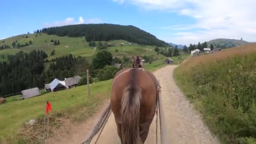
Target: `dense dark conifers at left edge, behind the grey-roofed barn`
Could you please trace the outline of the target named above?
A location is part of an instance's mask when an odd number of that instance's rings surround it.
[[[21,92],[27,88],[43,87],[45,83],[43,51],[20,51],[15,56],[8,55],[8,63],[0,62],[0,94]]]

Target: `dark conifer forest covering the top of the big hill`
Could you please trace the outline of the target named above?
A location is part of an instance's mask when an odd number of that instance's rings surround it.
[[[35,33],[43,32],[48,35],[84,37],[87,42],[127,40],[141,45],[168,45],[163,40],[134,26],[122,26],[117,24],[76,24],[62,27],[43,28]]]

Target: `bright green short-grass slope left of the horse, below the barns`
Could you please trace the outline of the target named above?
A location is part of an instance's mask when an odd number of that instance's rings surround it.
[[[7,138],[19,131],[24,122],[45,113],[45,102],[50,101],[53,112],[63,112],[81,107],[92,108],[109,98],[112,80],[91,84],[91,97],[87,96],[87,85],[69,90],[47,93],[43,96],[12,101],[0,105],[0,136]],[[107,93],[107,94],[106,94]],[[9,98],[11,100],[13,98]]]

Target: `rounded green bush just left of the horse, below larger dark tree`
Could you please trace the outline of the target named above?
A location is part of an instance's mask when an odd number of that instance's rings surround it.
[[[109,80],[115,76],[118,69],[114,66],[106,66],[103,69],[100,69],[97,77],[99,80]]]

